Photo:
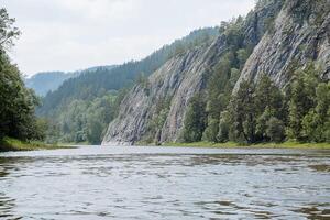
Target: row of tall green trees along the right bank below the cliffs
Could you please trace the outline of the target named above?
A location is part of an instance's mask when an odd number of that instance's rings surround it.
[[[280,90],[264,75],[242,81],[213,123],[210,96],[197,94],[188,107],[183,141],[261,143],[330,142],[330,82],[309,63]],[[221,105],[221,103],[219,103]]]

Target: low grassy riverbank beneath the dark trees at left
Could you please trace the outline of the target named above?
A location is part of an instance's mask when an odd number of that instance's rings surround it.
[[[8,151],[36,151],[36,150],[55,150],[55,148],[73,148],[68,145],[45,144],[42,142],[23,142],[16,139],[4,138],[0,141],[0,152]]]

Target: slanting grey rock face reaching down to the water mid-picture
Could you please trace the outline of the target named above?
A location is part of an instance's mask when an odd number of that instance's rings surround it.
[[[220,45],[219,45],[220,44]],[[157,133],[157,141],[176,141],[183,128],[189,99],[205,87],[205,74],[221,54],[221,38],[177,55],[148,78],[148,88],[136,85],[124,98],[120,113],[103,139],[102,145],[132,144],[141,141],[156,112],[160,99],[169,99],[169,111]],[[146,91],[147,90],[147,91]]]

